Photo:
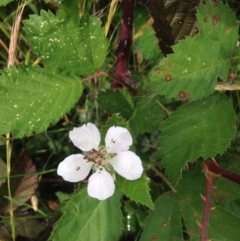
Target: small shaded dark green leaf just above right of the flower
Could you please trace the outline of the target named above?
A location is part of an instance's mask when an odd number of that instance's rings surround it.
[[[163,109],[157,104],[159,96],[138,97],[130,127],[134,133],[141,134],[159,129],[165,117]]]

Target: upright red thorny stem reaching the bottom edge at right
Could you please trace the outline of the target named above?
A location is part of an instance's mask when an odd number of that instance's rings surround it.
[[[213,179],[214,174],[208,169],[208,166],[206,163],[203,163],[203,169],[206,174],[206,193],[203,197],[204,201],[204,210],[203,210],[203,217],[202,217],[202,223],[200,226],[200,241],[209,241],[208,239],[208,223],[209,223],[209,216],[210,211],[212,210],[211,205],[211,196],[212,196],[212,190],[213,190]]]

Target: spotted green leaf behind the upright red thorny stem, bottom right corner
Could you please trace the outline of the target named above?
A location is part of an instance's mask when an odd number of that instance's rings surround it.
[[[215,195],[215,188],[220,190],[220,192],[224,191],[221,186],[222,182],[218,182],[218,179],[225,181],[226,186],[229,186],[229,200],[232,199],[231,195],[236,195],[239,192],[237,191],[237,193],[235,193],[235,183],[222,179],[221,177],[216,179],[217,180],[214,181],[213,197]],[[179,182],[176,189],[178,191],[176,193],[178,196],[177,205],[179,205],[179,208],[182,211],[184,223],[186,225],[186,229],[189,231],[190,239],[198,241],[200,235],[198,223],[202,222],[203,213],[203,200],[200,194],[204,195],[205,193],[206,177],[201,172],[185,172],[183,179]],[[239,214],[229,213],[222,207],[221,202],[216,199],[212,200],[212,206],[214,209],[210,212],[208,225],[209,239],[219,241],[239,240]]]

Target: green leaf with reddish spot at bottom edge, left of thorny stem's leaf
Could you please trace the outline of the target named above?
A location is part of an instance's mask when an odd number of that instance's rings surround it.
[[[154,202],[154,206],[155,210],[150,212],[146,220],[140,241],[183,241],[181,212],[176,206],[176,195],[164,193]]]

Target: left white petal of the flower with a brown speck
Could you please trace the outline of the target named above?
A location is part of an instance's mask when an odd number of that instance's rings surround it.
[[[79,182],[89,174],[93,163],[84,159],[81,154],[71,155],[59,163],[57,174],[65,181]]]

